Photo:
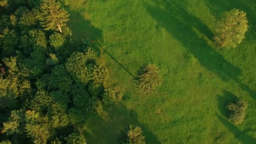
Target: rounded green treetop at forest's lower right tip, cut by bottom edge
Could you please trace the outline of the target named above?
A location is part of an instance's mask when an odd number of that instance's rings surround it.
[[[86,144],[85,136],[75,131],[65,138],[67,144]]]

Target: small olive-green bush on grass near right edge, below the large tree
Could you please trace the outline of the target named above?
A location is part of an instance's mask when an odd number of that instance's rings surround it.
[[[242,123],[247,107],[247,103],[243,100],[238,100],[235,104],[228,104],[227,109],[230,110],[229,120],[235,125]]]

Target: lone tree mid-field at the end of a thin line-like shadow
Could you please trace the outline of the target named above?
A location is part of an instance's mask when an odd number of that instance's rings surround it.
[[[144,93],[152,93],[162,82],[159,69],[156,64],[148,64],[141,68],[138,76],[138,88]]]

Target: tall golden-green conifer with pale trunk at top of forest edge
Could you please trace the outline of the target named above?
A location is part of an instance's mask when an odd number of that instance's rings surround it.
[[[55,0],[43,0],[41,3],[41,25],[45,30],[59,30],[66,25],[69,20],[69,14],[64,8],[61,8],[61,3]]]

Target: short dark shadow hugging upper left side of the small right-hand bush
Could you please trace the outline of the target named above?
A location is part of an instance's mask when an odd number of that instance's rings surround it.
[[[237,97],[229,91],[223,91],[223,96],[217,95],[219,111],[224,117],[228,117],[229,110],[227,109],[227,105],[230,102],[235,102],[236,99]]]

